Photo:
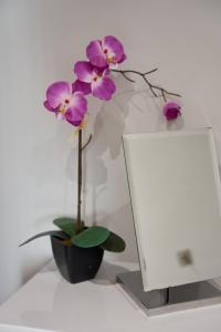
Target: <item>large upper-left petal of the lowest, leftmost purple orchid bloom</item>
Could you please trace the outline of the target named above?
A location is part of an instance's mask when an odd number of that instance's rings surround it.
[[[55,82],[46,91],[48,105],[57,108],[60,104],[69,97],[72,92],[71,84],[67,82]]]

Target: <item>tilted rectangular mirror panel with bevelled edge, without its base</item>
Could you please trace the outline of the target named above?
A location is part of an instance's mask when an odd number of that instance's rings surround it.
[[[221,276],[211,128],[123,136],[144,290]]]

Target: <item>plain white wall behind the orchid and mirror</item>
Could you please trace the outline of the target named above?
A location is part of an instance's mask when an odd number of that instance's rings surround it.
[[[152,81],[183,96],[182,125],[212,126],[221,157],[219,0],[0,0],[0,301],[51,257],[48,239],[18,245],[51,229],[54,216],[76,212],[72,126],[42,102],[48,84],[73,80],[74,61],[106,34],[124,42],[125,69],[159,68]],[[139,80],[116,81],[113,101],[90,98],[84,215],[125,237],[117,259],[136,260],[120,136],[166,124]]]

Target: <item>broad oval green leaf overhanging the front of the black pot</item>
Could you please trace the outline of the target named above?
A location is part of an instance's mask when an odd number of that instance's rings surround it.
[[[71,241],[73,245],[81,248],[92,248],[104,243],[108,236],[109,230],[107,228],[92,226],[76,236],[73,236]]]

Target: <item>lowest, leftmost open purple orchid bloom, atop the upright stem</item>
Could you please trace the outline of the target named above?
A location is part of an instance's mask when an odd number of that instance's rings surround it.
[[[82,92],[73,91],[67,82],[55,82],[46,90],[44,106],[59,120],[66,120],[78,126],[87,111],[87,101]]]

